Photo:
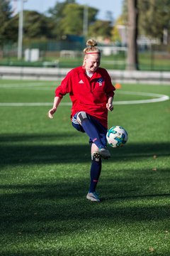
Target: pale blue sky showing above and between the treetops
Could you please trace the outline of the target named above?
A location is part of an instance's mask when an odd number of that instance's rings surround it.
[[[14,14],[21,10],[22,0],[11,0]],[[23,0],[23,9],[34,10],[40,13],[45,13],[48,9],[55,6],[57,1],[62,0]],[[122,12],[123,0],[77,0],[77,4],[86,4],[87,6],[98,9],[98,19],[106,20],[107,11],[112,12],[113,19],[117,19]]]

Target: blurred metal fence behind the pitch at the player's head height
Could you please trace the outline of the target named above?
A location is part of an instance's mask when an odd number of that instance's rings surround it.
[[[108,69],[125,70],[127,48],[113,45],[99,45],[102,50],[102,65]],[[38,58],[26,59],[26,50],[37,49]],[[0,50],[0,65],[74,68],[82,63],[82,41],[33,41],[23,45],[23,58],[17,60],[17,45],[6,44]],[[138,49],[139,69],[170,71],[170,46],[140,46]],[[64,61],[67,60],[67,61]]]

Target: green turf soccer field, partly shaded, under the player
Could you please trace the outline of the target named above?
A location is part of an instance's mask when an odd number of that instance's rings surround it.
[[[116,91],[109,127],[122,125],[129,140],[103,161],[101,203],[86,200],[89,139],[72,128],[70,107],[47,118],[57,85],[0,80],[0,255],[169,256],[169,100],[120,101],[170,95],[170,84]]]

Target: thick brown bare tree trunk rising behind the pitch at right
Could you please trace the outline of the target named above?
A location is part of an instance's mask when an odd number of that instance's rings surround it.
[[[128,56],[127,70],[138,70],[137,58],[137,0],[128,0]]]

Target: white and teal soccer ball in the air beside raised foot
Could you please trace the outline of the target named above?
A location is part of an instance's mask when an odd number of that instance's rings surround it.
[[[128,141],[128,132],[123,127],[117,125],[108,129],[106,139],[112,147],[124,146]]]

